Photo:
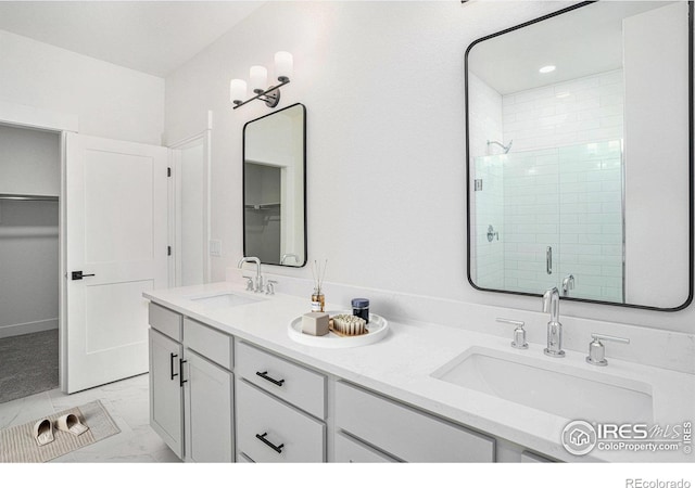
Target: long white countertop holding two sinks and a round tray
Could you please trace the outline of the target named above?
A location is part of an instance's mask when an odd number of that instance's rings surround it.
[[[191,297],[222,293],[247,295],[260,301],[236,307],[205,305]],[[564,359],[546,358],[545,345],[529,345],[527,350],[513,349],[509,337],[497,337],[462,328],[431,323],[404,323],[389,317],[390,330],[380,342],[362,347],[326,349],[299,344],[288,335],[288,324],[309,311],[309,303],[292,295],[266,296],[243,291],[236,283],[220,282],[179,288],[147,292],[146,298],[202,321],[240,339],[302,362],[326,373],[428,410],[464,424],[568,462],[694,462],[695,454],[675,451],[633,452],[598,450],[576,457],[560,445],[560,435],[570,420],[532,409],[491,395],[454,385],[431,374],[473,346],[532,356],[548,363],[561,362],[578,370],[595,372],[585,362],[585,354],[567,351]],[[326,304],[327,310],[344,306]],[[370,310],[379,313],[379,310]],[[695,375],[610,359],[602,373],[639,381],[652,387],[655,424],[661,427],[683,424],[695,418]],[[602,398],[595,401],[601,402]]]

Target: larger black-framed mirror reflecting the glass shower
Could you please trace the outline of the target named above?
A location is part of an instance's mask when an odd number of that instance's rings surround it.
[[[693,296],[693,4],[583,2],[466,51],[468,279]]]

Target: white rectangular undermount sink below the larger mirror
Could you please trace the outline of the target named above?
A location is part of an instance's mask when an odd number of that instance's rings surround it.
[[[654,421],[648,384],[561,361],[471,347],[431,376],[568,420]]]

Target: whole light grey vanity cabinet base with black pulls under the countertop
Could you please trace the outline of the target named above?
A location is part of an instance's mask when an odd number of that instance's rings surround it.
[[[552,461],[156,304],[150,324],[150,424],[186,461]]]

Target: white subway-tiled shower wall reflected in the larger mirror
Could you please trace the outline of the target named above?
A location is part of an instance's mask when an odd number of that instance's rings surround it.
[[[573,274],[577,295],[623,299],[622,89],[618,69],[500,97],[511,151],[471,153],[483,180],[471,214],[479,286],[542,292]],[[483,100],[471,110],[498,97],[475,92]],[[489,222],[498,232],[492,242]]]

